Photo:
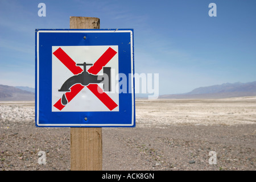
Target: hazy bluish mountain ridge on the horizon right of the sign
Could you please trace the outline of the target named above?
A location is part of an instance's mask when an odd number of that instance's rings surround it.
[[[226,83],[222,85],[205,86],[192,90],[184,94],[168,94],[159,96],[160,99],[180,99],[180,98],[228,98],[256,96],[256,81],[234,84]]]

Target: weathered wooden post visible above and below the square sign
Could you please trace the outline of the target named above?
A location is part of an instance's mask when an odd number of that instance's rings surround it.
[[[90,17],[70,17],[70,28],[100,28],[100,19]],[[102,170],[101,128],[71,127],[71,170]]]

